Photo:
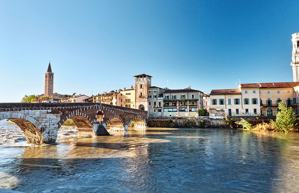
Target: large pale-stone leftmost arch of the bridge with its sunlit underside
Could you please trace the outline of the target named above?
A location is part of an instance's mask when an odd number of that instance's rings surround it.
[[[7,113],[6,119],[20,127],[29,144],[44,145],[45,141],[49,139],[44,127],[28,114],[21,112]],[[2,120],[1,117],[0,120]]]

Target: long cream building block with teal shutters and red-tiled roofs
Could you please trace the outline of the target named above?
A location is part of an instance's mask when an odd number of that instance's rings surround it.
[[[212,90],[211,108],[224,110],[227,116],[276,115],[283,101],[299,115],[299,82],[240,84],[238,89]]]

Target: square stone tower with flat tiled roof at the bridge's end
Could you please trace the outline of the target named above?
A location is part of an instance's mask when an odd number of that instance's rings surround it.
[[[148,88],[151,85],[151,76],[140,74],[135,77],[135,108],[148,111]]]

